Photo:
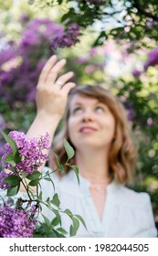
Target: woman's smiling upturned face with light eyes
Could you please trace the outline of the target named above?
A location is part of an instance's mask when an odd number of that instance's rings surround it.
[[[106,104],[96,98],[74,95],[69,109],[68,136],[77,150],[110,148],[115,119]]]

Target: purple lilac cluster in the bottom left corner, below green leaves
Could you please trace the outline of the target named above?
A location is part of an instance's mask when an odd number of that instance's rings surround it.
[[[0,206],[0,238],[32,238],[36,220],[24,209]]]

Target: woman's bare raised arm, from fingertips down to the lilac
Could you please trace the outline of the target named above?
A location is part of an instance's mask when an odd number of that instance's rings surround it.
[[[51,141],[53,140],[58,123],[65,112],[68,92],[75,87],[75,83],[68,82],[73,77],[73,72],[58,76],[65,64],[65,59],[58,61],[56,56],[52,56],[42,69],[37,83],[37,116],[27,136],[37,137],[48,133]]]

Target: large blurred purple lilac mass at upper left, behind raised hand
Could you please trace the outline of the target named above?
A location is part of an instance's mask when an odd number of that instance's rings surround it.
[[[5,43],[0,51],[1,97],[12,107],[15,101],[35,101],[39,73],[47,59],[57,48],[76,44],[80,36],[75,23],[65,28],[48,18],[28,23],[26,18],[22,37],[17,42]],[[4,68],[5,63],[9,68]]]

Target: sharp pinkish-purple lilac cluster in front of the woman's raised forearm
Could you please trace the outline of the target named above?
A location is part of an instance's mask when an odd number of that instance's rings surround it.
[[[37,171],[37,168],[47,160],[47,155],[43,153],[43,150],[50,148],[48,133],[39,138],[28,138],[25,133],[13,131],[9,133],[9,136],[15,140],[21,157],[20,162],[15,167],[16,172],[24,171],[27,175],[30,175]],[[5,154],[2,157],[2,161],[11,152],[10,145],[5,144]],[[9,167],[10,165],[5,163],[5,168]]]

